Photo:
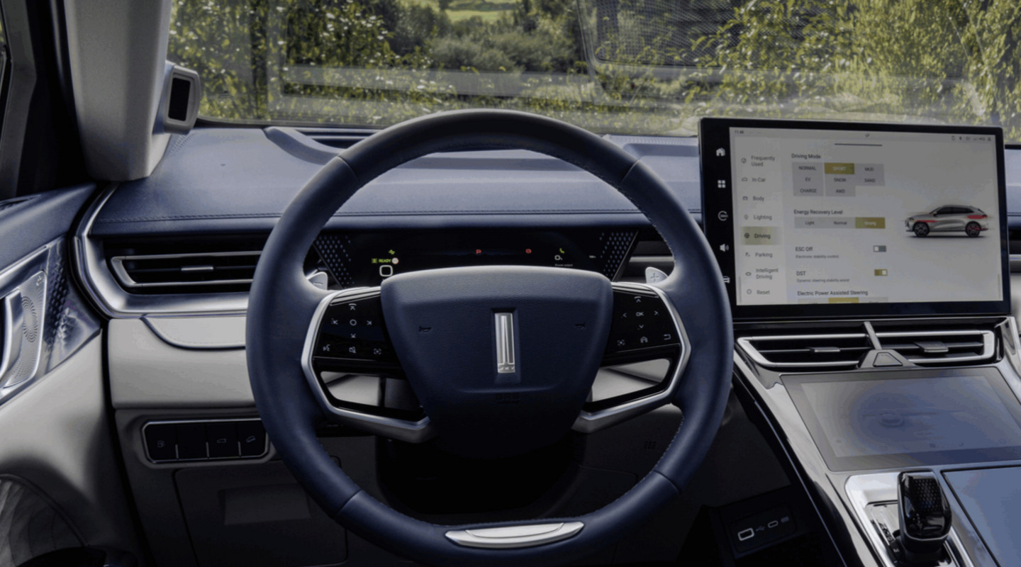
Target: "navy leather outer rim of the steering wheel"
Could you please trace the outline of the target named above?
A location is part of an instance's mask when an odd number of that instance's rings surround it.
[[[649,218],[674,258],[657,284],[688,330],[690,358],[672,403],[684,414],[653,469],[607,506],[577,518],[574,536],[523,549],[477,549],[445,536],[473,526],[436,525],[403,515],[360,489],[315,437],[325,417],[301,365],[312,314],[328,295],[309,284],[302,262],[330,217],[361,187],[415,158],[479,148],[524,149],[557,157],[618,189]],[[246,357],[259,415],[284,463],[337,522],[395,553],[434,565],[558,564],[616,543],[676,498],[701,463],[730,391],[733,328],[719,266],[677,195],[610,141],[552,118],[504,110],[432,114],[381,131],[344,150],[297,194],[270,236],[248,300]],[[485,527],[527,525],[501,522]],[[474,526],[480,527],[480,526]]]

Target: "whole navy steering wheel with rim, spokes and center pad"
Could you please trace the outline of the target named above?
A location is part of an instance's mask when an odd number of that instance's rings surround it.
[[[378,288],[333,293],[308,281],[305,251],[358,189],[411,159],[480,148],[554,156],[617,188],[669,245],[673,273],[654,286],[534,266],[414,271]],[[667,185],[587,131],[500,110],[408,120],[327,163],[270,235],[249,295],[246,342],[259,415],[311,498],[366,539],[433,565],[558,564],[616,543],[676,498],[701,463],[723,417],[733,363],[719,267]],[[670,360],[661,383],[589,400],[600,365],[653,358]],[[396,376],[387,380],[398,384],[395,395],[409,390],[418,404],[339,400],[324,380],[328,371]],[[315,436],[317,426],[332,420],[407,443],[434,440],[460,455],[506,457],[668,403],[684,419],[652,470],[615,502],[571,518],[455,526],[420,521],[360,489]]]

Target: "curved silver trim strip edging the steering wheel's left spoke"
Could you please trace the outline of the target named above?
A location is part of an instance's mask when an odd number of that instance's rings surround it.
[[[321,301],[319,306],[315,307],[311,323],[308,325],[308,332],[305,336],[305,346],[301,352],[301,369],[304,371],[305,378],[308,380],[308,385],[311,388],[312,394],[314,394],[315,398],[319,400],[320,406],[336,416],[339,421],[357,427],[369,433],[383,435],[385,437],[407,443],[422,443],[424,441],[428,441],[436,433],[432,425],[429,423],[428,416],[423,417],[418,421],[410,421],[396,417],[363,413],[347,408],[338,408],[330,403],[330,399],[327,397],[326,391],[323,389],[319,378],[315,376],[315,372],[312,370],[312,350],[315,348],[315,337],[319,334],[320,323],[323,322],[323,317],[326,314],[327,308],[334,302],[342,303],[355,298],[366,299],[379,295],[379,287],[351,288],[348,290],[334,292],[323,298],[323,301]]]

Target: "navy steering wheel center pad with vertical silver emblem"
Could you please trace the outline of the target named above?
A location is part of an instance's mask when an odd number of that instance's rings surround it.
[[[551,445],[571,429],[599,369],[614,303],[600,273],[518,266],[402,273],[383,281],[380,297],[438,442],[484,458]],[[494,325],[502,332],[488,332]],[[498,366],[493,353],[504,348]]]

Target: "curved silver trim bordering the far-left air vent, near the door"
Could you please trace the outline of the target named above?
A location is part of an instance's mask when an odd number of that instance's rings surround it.
[[[144,296],[129,294],[107,268],[100,241],[89,238],[103,205],[109,201],[117,184],[111,184],[89,205],[70,240],[75,270],[85,293],[108,317],[138,318],[142,315],[243,314],[248,308],[248,294],[172,294]]]

